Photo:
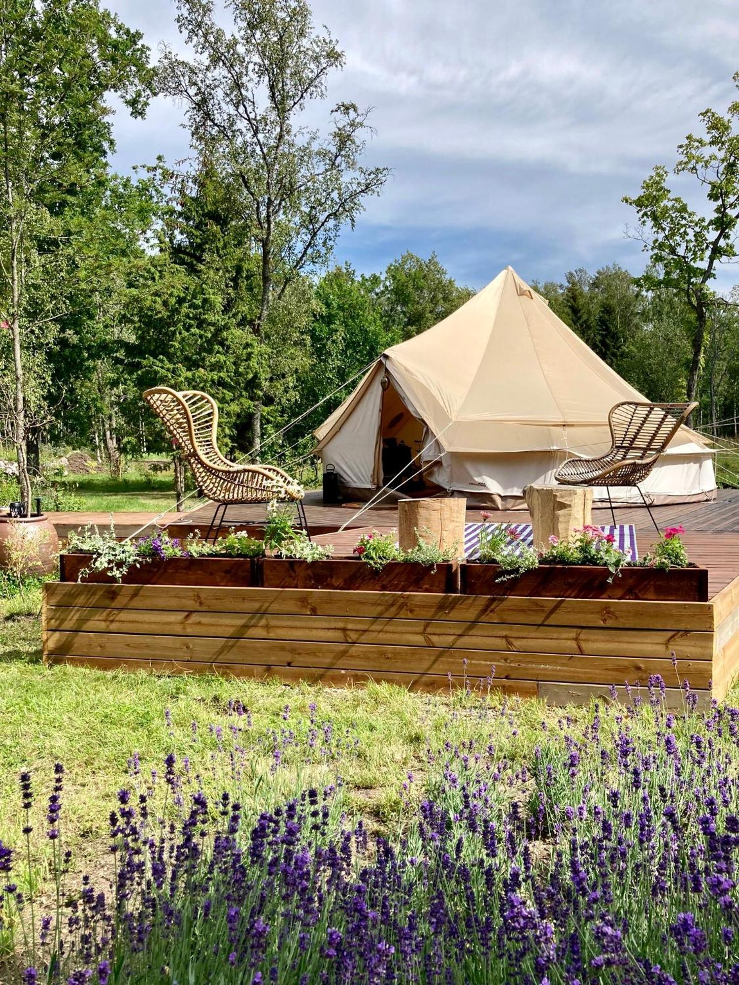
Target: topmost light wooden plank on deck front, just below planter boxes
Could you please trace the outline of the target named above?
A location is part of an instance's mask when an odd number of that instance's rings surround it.
[[[621,599],[533,599],[518,596],[341,592],[289,588],[193,588],[171,585],[77,585],[47,582],[50,605],[92,608],[204,609],[281,615],[446,619],[499,624],[610,626],[646,629],[713,628],[709,602]]]

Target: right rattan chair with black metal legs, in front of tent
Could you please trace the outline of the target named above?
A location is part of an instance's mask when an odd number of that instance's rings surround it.
[[[557,470],[555,479],[567,486],[605,487],[614,526],[616,513],[611,488],[633,486],[659,531],[639,483],[646,479],[678,428],[697,407],[697,403],[642,404],[630,400],[616,404],[608,415],[610,449],[597,458],[569,458]]]

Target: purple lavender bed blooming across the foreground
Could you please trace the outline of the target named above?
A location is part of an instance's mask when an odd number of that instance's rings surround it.
[[[682,714],[654,678],[621,713],[595,704],[579,726],[565,713],[542,723],[529,761],[504,703],[492,712],[510,721],[504,748],[443,743],[427,751],[423,791],[407,774],[393,841],[352,821],[334,784],[254,814],[247,775],[214,798],[173,754],[157,783],[137,762],[110,814],[109,897],[84,877],[77,893],[62,886],[66,906],[29,912],[23,852],[0,845],[4,917],[29,935],[22,980],[735,983],[739,710],[698,714],[684,690]],[[315,757],[327,723],[283,717],[265,748],[288,737]],[[218,741],[227,761],[243,748],[235,728],[234,746]],[[28,773],[21,786],[28,827]]]

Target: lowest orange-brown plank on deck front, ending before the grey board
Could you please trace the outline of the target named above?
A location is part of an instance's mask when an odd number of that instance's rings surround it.
[[[394,684],[408,690],[445,691],[450,688],[464,688],[467,684],[463,677],[447,677],[435,674],[392,674],[389,672],[367,672],[333,670],[313,667],[271,667],[269,664],[229,664],[229,663],[198,663],[187,661],[178,663],[173,660],[136,660],[131,657],[107,659],[74,654],[64,656],[53,655],[49,658],[52,664],[70,664],[77,667],[90,667],[98,670],[148,671],[155,674],[221,674],[235,678],[251,678],[266,681],[277,678],[286,684],[300,685],[321,684],[325,687],[352,688],[367,685],[370,681]],[[521,697],[536,697],[537,685],[530,681],[495,681],[493,690]],[[475,683],[472,684],[475,688]],[[487,684],[486,684],[487,690]]]

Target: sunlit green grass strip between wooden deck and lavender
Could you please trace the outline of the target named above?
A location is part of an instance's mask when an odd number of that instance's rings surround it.
[[[229,736],[234,723],[228,714],[230,700],[240,700],[251,711],[250,741],[267,737],[268,747],[271,730],[304,730],[313,703],[319,721],[332,723],[344,747],[335,762],[305,766],[296,761],[295,769],[281,769],[277,780],[270,776],[264,747],[254,759],[255,807],[260,798],[272,801],[290,796],[296,786],[330,782],[338,771],[349,809],[364,815],[370,828],[391,835],[404,823],[407,805],[403,807],[401,785],[409,771],[416,776],[414,789],[423,792],[428,748],[474,738],[478,748],[493,744],[497,757],[524,763],[541,741],[542,723],[553,736],[564,714],[538,700],[505,700],[495,690],[424,695],[389,685],[322,689],[216,675],[164,677],[44,667],[38,608],[37,589],[0,601],[0,839],[18,843],[18,774],[30,768],[39,794],[34,853],[41,883],[48,861],[42,809],[55,761],[66,768],[65,846],[73,848],[78,871],[102,865],[108,813],[125,783],[129,758],[137,753],[143,770],[161,771],[168,752],[188,755],[192,768],[205,776],[205,785],[218,787],[223,778],[209,778],[217,742],[209,729],[221,726]],[[735,692],[730,699],[737,696]],[[593,714],[592,707],[569,710],[575,719]],[[620,713],[618,705],[603,711],[601,727],[612,728]]]

